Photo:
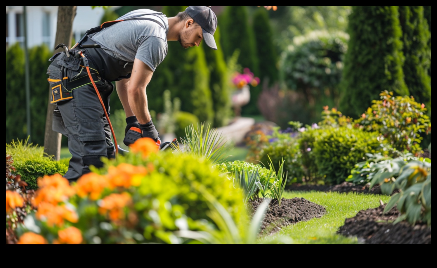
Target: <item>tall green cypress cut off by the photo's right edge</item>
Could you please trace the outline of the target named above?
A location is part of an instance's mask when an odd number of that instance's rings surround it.
[[[399,6],[402,26],[403,71],[409,93],[417,102],[431,104],[431,49],[428,47],[430,32],[423,18],[423,6]]]

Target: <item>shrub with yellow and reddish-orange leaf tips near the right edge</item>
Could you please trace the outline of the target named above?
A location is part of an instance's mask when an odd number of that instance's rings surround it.
[[[425,105],[411,97],[393,97],[393,93],[388,91],[380,96],[381,100],[372,101],[371,108],[355,123],[365,131],[380,132],[399,151],[420,152],[423,136],[431,132]]]

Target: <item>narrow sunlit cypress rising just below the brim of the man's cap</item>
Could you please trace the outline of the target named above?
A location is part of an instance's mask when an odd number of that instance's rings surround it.
[[[208,70],[211,72],[209,87],[212,90],[214,127],[226,125],[231,114],[229,82],[227,81],[226,62],[222,45],[220,44],[220,38],[220,29],[218,27],[214,34],[217,50],[211,49],[205,42],[201,43],[205,51]]]

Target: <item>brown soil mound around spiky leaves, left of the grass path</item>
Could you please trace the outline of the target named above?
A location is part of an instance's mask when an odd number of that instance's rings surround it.
[[[263,198],[260,198],[259,202],[252,202],[252,215],[262,201]],[[278,201],[274,199],[270,202],[269,209],[267,209],[261,230],[264,234],[274,233],[281,230],[283,226],[308,221],[313,218],[320,218],[325,215],[325,213],[326,209],[323,206],[310,202],[305,198],[282,198],[281,207]]]

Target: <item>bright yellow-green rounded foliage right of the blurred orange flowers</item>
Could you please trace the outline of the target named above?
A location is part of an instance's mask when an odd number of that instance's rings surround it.
[[[213,167],[212,162],[186,153],[162,151],[156,155],[152,154],[148,160],[143,160],[138,155],[128,154],[109,162],[110,165],[120,163],[151,167],[151,172],[142,178],[142,183],[136,193],[141,197],[142,205],[152,206],[151,203],[156,202],[153,201],[156,199],[159,200],[160,205],[169,204],[172,207],[175,205],[180,207],[189,219],[188,222],[192,228],[190,230],[200,230],[198,224],[192,224],[193,221],[206,219],[211,222],[210,208],[202,191],[207,191],[214,196],[227,209],[235,222],[242,224],[239,227],[244,227],[243,222],[246,222],[247,215],[242,191],[233,188],[232,181],[222,176],[220,171]],[[105,170],[106,168],[99,172],[104,174]],[[138,206],[140,204],[137,204],[137,208]],[[166,211],[167,209],[163,207],[162,212],[167,213]],[[163,217],[167,221],[170,220],[168,216],[162,216],[160,210],[157,213],[161,221]],[[177,230],[176,227],[169,227],[172,225],[174,222],[169,223],[164,229],[167,229],[166,231]]]

